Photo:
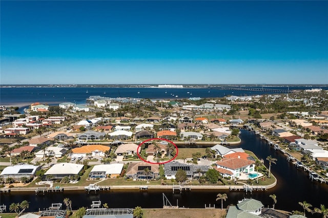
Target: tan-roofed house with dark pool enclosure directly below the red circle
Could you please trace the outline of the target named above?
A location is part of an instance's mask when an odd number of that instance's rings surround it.
[[[149,174],[146,175],[145,169],[148,168]],[[133,180],[154,180],[159,176],[159,165],[146,162],[129,163],[126,177]]]

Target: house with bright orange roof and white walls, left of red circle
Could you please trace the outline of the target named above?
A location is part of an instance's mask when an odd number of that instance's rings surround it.
[[[91,154],[92,157],[104,157],[105,152],[111,148],[106,145],[85,145],[82,147],[76,147],[72,149],[73,157],[87,157],[87,154]]]

